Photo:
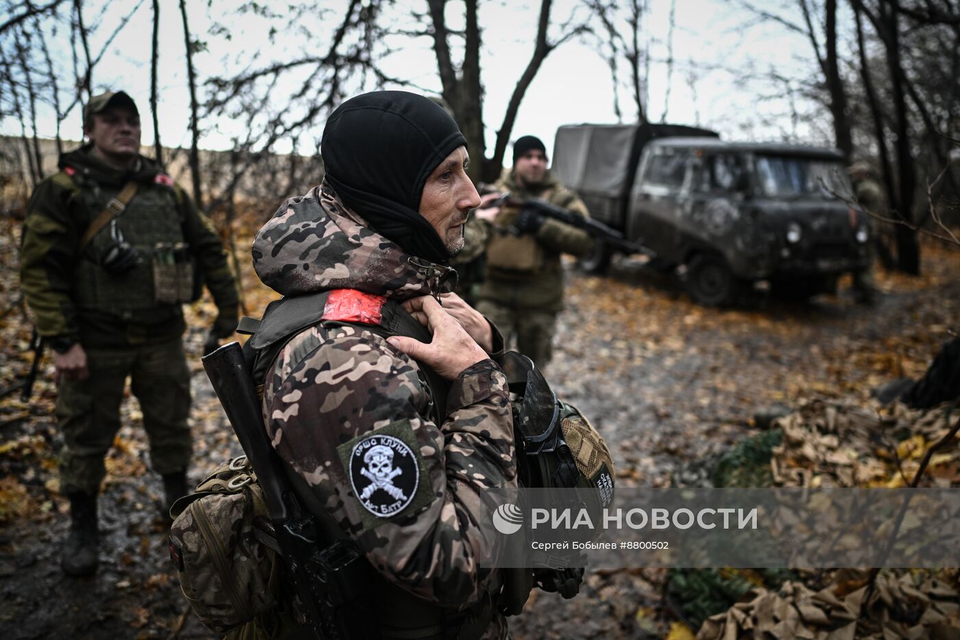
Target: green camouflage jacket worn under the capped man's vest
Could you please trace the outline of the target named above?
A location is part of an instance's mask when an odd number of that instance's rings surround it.
[[[92,255],[94,243],[80,255],[80,238],[103,210],[90,203],[101,193],[100,199],[108,199],[131,180],[139,183],[139,189],[121,216],[131,215],[139,201],[149,200],[155,207],[157,203],[169,203],[168,214],[180,221],[178,235],[198,260],[204,283],[221,309],[221,318],[232,317],[235,323],[236,285],[219,236],[180,186],[153,160],[140,157],[138,167],[130,171],[113,169],[93,156],[86,145],[61,156],[60,171],[36,186],[23,223],[20,285],[36,315],[40,335],[66,336],[87,347],[122,347],[170,340],[186,328],[180,305],[157,303],[135,318],[123,318],[105,309],[82,309],[76,304],[78,287],[84,285],[79,261],[96,259]],[[118,222],[122,228],[124,220]],[[98,235],[108,234],[108,227]],[[176,223],[173,228],[177,229]],[[149,269],[151,257],[141,259],[136,268]]]

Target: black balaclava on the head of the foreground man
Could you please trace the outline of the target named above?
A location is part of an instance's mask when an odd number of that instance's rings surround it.
[[[411,256],[445,264],[440,235],[420,215],[423,185],[466,146],[449,113],[407,91],[373,91],[330,114],[321,140],[326,182],[350,209]]]

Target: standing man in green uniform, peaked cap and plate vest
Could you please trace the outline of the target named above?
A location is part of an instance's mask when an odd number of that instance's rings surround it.
[[[180,304],[205,283],[219,314],[211,338],[237,321],[236,285],[220,238],[173,180],[139,155],[132,98],[107,92],[84,109],[88,141],[37,185],[23,226],[20,283],[53,349],[64,447],[60,490],[70,500],[61,566],[97,567],[97,495],[120,428],[130,376],[167,503],[187,493],[190,372]]]

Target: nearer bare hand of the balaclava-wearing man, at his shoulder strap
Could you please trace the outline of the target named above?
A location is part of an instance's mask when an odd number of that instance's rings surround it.
[[[430,296],[412,298],[404,303],[404,307],[433,333],[433,340],[427,344],[411,337],[392,335],[387,342],[407,356],[429,365],[444,380],[456,380],[464,369],[487,359],[487,352],[470,337],[460,322]]]

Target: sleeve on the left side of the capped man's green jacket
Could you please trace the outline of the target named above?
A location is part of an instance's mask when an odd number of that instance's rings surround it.
[[[88,224],[80,189],[60,172],[36,186],[23,222],[20,287],[40,335],[78,339],[70,297],[81,230]]]

